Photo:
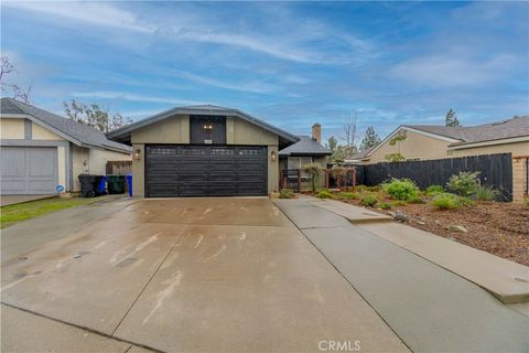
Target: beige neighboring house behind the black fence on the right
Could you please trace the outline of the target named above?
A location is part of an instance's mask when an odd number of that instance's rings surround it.
[[[396,136],[406,137],[390,145]],[[431,160],[478,154],[512,154],[512,193],[519,200],[527,193],[529,116],[514,117],[472,127],[402,125],[377,146],[363,151],[364,164],[386,162],[386,156],[400,153],[406,160]]]

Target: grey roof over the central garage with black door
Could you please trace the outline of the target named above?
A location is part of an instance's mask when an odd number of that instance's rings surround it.
[[[258,127],[268,130],[274,135],[278,135],[279,138],[281,139],[282,143],[281,145],[289,145],[289,143],[294,143],[298,142],[299,138],[295,137],[294,135],[287,132],[278,127],[274,127],[268,122],[262,121],[261,119],[258,119],[256,117],[250,116],[247,113],[244,113],[239,109],[234,109],[234,108],[226,108],[226,107],[218,107],[218,106],[212,106],[212,105],[202,105],[202,106],[184,106],[184,107],[175,107],[165,111],[162,111],[160,114],[153,115],[151,117],[148,117],[145,119],[136,121],[133,124],[130,124],[126,127],[122,127],[121,129],[117,129],[114,131],[110,131],[107,133],[107,137],[109,139],[116,140],[116,141],[129,141],[130,140],[130,133],[133,130],[143,128],[148,125],[158,122],[163,119],[171,118],[175,115],[220,115],[220,116],[235,116],[238,117],[242,120],[246,120],[250,124],[257,125]]]

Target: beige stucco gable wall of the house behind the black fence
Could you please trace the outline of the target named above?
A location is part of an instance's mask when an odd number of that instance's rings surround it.
[[[446,158],[446,148],[449,141],[439,140],[432,137],[419,135],[417,132],[407,131],[407,138],[397,142],[395,146],[389,145],[389,140],[380,146],[369,157],[365,164],[374,164],[378,162],[387,162],[386,156],[391,153],[400,153],[404,158],[420,158],[421,160]]]

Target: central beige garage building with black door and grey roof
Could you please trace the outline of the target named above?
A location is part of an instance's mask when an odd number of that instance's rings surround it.
[[[132,146],[141,197],[267,195],[279,150],[299,138],[238,109],[177,107],[107,133]]]

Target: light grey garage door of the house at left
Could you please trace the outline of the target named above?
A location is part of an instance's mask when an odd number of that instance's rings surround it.
[[[2,147],[2,195],[53,194],[57,185],[55,147]]]

